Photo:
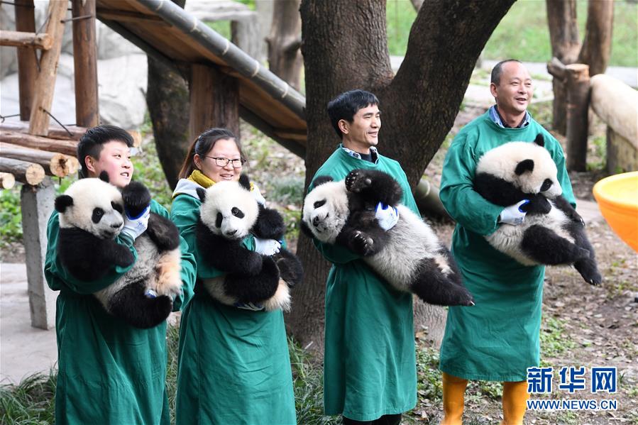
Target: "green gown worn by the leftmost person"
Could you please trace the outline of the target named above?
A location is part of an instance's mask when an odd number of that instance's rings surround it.
[[[168,218],[153,201],[150,210]],[[132,266],[114,266],[106,277],[82,282],[72,277],[57,257],[60,223],[57,211],[48,222],[45,277],[60,291],[57,297],[57,388],[55,424],[169,424],[165,390],[166,324],[152,329],[128,326],[101,307],[93,292],[111,285]],[[133,241],[119,236],[137,260]],[[195,263],[182,239],[183,294],[173,308],[192,297]]]

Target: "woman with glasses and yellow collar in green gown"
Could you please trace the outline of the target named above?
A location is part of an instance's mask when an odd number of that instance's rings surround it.
[[[196,225],[198,187],[239,180],[246,162],[233,133],[211,128],[192,144],[173,193],[171,219],[197,262],[197,278],[223,273],[200,260]],[[258,202],[259,189],[251,184]],[[263,255],[274,240],[248,236],[246,248]],[[177,424],[296,424],[292,371],[282,311],[230,307],[212,299],[200,283],[182,313],[177,377]]]

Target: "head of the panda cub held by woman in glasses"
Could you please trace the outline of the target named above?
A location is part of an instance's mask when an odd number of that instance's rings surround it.
[[[259,215],[258,203],[249,190],[238,182],[219,182],[202,193],[199,216],[211,232],[226,239],[248,236]]]

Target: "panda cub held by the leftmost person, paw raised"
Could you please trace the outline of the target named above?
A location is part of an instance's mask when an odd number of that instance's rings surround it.
[[[70,274],[84,281],[99,280],[114,265],[128,267],[135,258],[116,243],[123,228],[124,209],[132,216],[150,204],[148,189],[131,182],[120,192],[108,175],[73,183],[55,199],[60,219],[57,255]],[[148,228],[135,241],[138,259],[119,280],[94,293],[110,314],[147,329],[172,311],[172,297],[182,290],[180,233],[163,216],[150,213]]]

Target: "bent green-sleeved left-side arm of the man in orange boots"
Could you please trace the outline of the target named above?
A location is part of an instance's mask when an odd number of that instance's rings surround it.
[[[445,157],[439,197],[446,211],[461,226],[489,235],[496,230],[503,207],[488,202],[473,189],[476,168],[473,156],[466,135],[457,136]]]

